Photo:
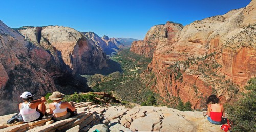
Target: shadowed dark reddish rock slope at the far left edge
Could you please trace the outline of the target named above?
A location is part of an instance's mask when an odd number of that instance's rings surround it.
[[[56,87],[45,67],[54,66],[51,55],[25,41],[23,36],[0,21],[0,115],[17,111],[18,97],[30,91],[39,98],[56,91]]]

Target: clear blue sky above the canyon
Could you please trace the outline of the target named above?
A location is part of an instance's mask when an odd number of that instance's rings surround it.
[[[245,7],[250,0],[3,0],[0,20],[12,28],[59,25],[99,36],[143,39],[150,27],[173,21],[187,25]]]

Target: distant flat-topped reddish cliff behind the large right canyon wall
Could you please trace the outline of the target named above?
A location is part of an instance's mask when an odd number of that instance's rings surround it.
[[[133,41],[130,51],[136,54],[152,57],[153,52],[163,39],[174,39],[180,34],[183,26],[178,23],[167,22],[165,25],[155,25],[146,34],[143,41]]]

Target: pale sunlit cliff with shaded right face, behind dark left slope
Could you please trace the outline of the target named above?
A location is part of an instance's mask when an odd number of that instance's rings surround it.
[[[44,48],[73,73],[92,74],[106,67],[106,55],[82,33],[63,26],[32,27],[18,30],[25,39]]]

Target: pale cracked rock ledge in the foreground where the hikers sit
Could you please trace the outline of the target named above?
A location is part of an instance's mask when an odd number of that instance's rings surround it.
[[[78,115],[54,122],[52,116],[42,120],[5,124],[12,115],[0,117],[0,131],[221,131],[208,122],[202,112],[183,112],[167,107],[102,107],[92,102],[75,104]],[[49,110],[47,110],[49,111]]]

